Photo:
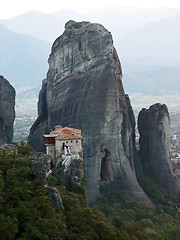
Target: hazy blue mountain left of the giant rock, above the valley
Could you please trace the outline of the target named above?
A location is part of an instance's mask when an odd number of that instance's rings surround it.
[[[0,24],[1,74],[18,86],[40,86],[45,77],[50,44],[17,34]]]

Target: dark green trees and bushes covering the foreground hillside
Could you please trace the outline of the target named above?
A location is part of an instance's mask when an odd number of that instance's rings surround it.
[[[90,208],[83,187],[67,191],[60,176],[45,181],[30,166],[32,149],[21,143],[19,153],[0,151],[1,240],[179,240],[179,202],[152,179],[139,182],[156,208],[122,195],[111,185],[101,187],[97,206]],[[48,198],[45,185],[61,194],[64,212]]]

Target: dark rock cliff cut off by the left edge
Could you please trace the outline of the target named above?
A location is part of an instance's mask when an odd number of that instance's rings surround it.
[[[15,90],[0,76],[0,145],[11,143],[15,118]]]

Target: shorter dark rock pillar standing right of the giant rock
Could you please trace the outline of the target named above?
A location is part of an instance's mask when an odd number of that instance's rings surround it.
[[[165,104],[157,103],[142,109],[138,117],[140,157],[143,171],[153,175],[169,193],[180,197],[180,181],[170,162],[169,125]]]

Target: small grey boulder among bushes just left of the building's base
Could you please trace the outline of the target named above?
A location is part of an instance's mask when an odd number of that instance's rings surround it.
[[[50,170],[52,158],[42,152],[36,152],[29,157],[32,166],[36,169],[36,175],[46,179],[46,174]]]

